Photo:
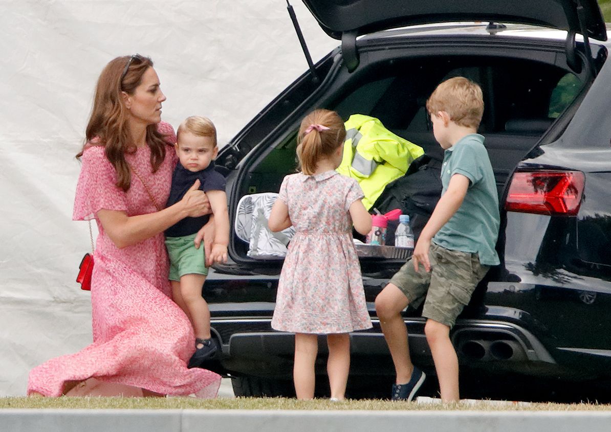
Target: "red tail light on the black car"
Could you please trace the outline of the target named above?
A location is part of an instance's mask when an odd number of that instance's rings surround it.
[[[516,172],[505,209],[544,215],[576,215],[584,194],[581,171]]]

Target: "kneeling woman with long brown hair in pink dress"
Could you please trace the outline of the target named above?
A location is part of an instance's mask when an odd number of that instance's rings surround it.
[[[187,369],[194,334],[172,301],[163,232],[210,213],[199,181],[163,209],[177,163],[166,100],[153,62],[139,55],[106,65],[87,124],[75,220],[95,218],[93,344],[32,369],[30,395],[189,395],[214,397],[221,377]],[[210,242],[212,232],[206,241]],[[201,237],[201,236],[200,236]],[[208,255],[207,255],[208,256]]]

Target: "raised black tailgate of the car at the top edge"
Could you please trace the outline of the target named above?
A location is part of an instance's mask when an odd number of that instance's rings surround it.
[[[581,70],[575,35],[584,35],[588,67],[588,38],[607,40],[607,29],[596,0],[303,0],[322,29],[342,41],[342,56],[349,71],[359,65],[356,38],[387,29],[453,21],[520,23],[565,30],[567,59]]]

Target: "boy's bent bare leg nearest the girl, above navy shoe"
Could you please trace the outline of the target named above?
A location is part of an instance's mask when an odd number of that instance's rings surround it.
[[[376,313],[390,356],[397,372],[397,384],[408,383],[414,371],[408,347],[408,329],[401,311],[408,306],[408,298],[396,285],[388,284],[376,297]]]

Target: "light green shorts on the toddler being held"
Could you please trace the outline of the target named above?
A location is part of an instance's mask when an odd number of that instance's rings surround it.
[[[167,254],[170,256],[170,281],[180,281],[184,275],[208,275],[203,243],[195,248],[197,234],[183,237],[166,237]]]

